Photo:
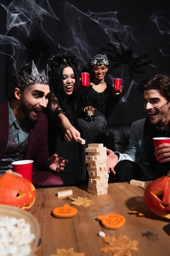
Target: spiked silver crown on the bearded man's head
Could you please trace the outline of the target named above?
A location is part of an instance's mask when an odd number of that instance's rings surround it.
[[[23,78],[18,75],[16,65],[14,64],[14,73],[15,73],[15,77],[16,77],[15,82],[18,84],[19,88],[28,87],[28,86],[34,85],[34,84],[47,84],[48,85],[48,65],[47,65],[46,74],[45,74],[44,70],[42,71],[42,73],[39,73],[34,61],[32,60],[31,75],[28,75],[27,73],[25,73],[23,71],[24,77],[25,77],[25,78]],[[29,82],[30,80],[32,80],[32,82]]]

